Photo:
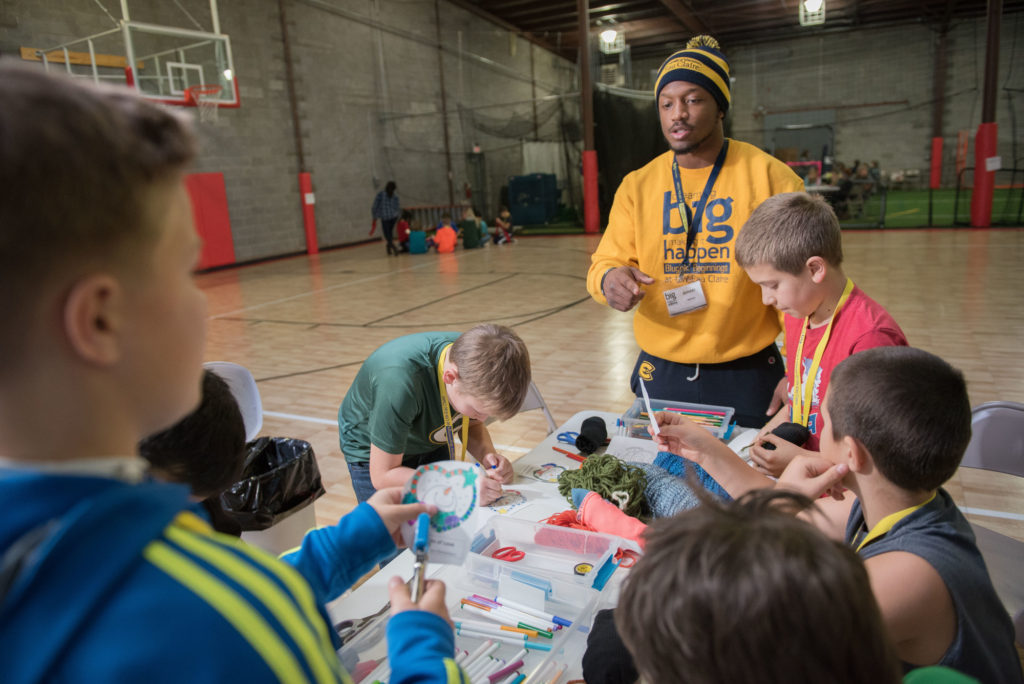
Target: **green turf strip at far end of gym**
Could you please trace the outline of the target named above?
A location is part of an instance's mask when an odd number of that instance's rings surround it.
[[[1018,219],[1021,197],[1024,188],[996,188],[992,196],[992,225],[1024,226],[1024,215]],[[886,228],[928,227],[928,190],[889,190],[886,198]],[[956,216],[953,219],[953,210]],[[872,195],[864,204],[860,216],[843,219],[844,228],[879,227],[882,198]],[[604,217],[602,217],[602,228]],[[932,226],[966,227],[971,221],[971,191],[961,190],[956,203],[956,190],[940,189],[932,194]],[[582,234],[583,224],[574,220],[561,220],[541,225],[525,225],[524,236],[571,236]]]

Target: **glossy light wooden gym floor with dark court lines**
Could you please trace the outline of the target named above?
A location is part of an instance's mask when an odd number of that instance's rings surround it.
[[[596,237],[522,238],[449,255],[388,257],[380,243],[199,276],[209,298],[206,358],[249,368],[262,434],[312,443],[326,496],[321,524],[355,505],[338,446],[338,407],[383,342],[477,323],[512,327],[555,420],[624,412],[638,348],[632,314],[585,289]],[[886,306],[910,343],[966,374],[972,405],[1024,402],[1024,229],[876,230],[844,236],[847,274]],[[547,432],[540,412],[492,426],[511,459]],[[1024,541],[1024,479],[961,471],[947,488],[972,519]]]

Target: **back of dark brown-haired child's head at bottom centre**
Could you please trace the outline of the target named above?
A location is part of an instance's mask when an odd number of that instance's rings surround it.
[[[651,523],[614,617],[640,681],[901,681],[864,564],[799,511],[811,500],[761,490]],[[946,668],[902,681],[975,682]]]

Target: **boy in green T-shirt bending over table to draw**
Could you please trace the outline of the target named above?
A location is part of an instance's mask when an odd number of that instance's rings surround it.
[[[417,333],[384,343],[352,381],[338,410],[341,451],[359,501],[375,489],[401,486],[421,465],[465,459],[484,467],[481,502],[514,477],[484,421],[507,419],[529,389],[529,352],[509,328]],[[457,450],[456,432],[462,450]]]

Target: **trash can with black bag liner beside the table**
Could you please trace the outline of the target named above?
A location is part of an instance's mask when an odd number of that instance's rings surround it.
[[[315,526],[312,503],[324,494],[309,442],[260,437],[249,442],[243,478],[220,495],[242,538],[271,553],[299,546]]]

